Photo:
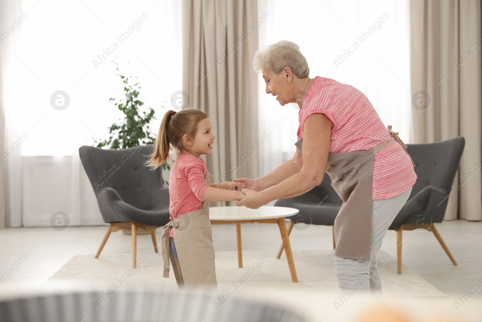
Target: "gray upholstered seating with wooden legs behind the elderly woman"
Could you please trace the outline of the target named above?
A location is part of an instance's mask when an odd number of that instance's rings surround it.
[[[402,274],[403,230],[422,228],[433,232],[452,263],[457,265],[449,248],[435,228],[435,223],[442,223],[445,215],[448,196],[452,190],[464,145],[464,137],[435,143],[407,144],[407,152],[415,163],[417,181],[412,187],[412,192],[405,206],[402,207],[390,228],[388,228],[397,231],[398,274]],[[300,210],[295,216],[287,217],[291,219],[288,234],[291,233],[296,223],[329,226],[335,224],[336,215],[343,201],[338,197],[330,183],[330,177],[325,173],[321,184],[307,193],[276,201],[275,206]],[[334,249],[335,246],[335,238],[333,238]],[[283,246],[281,245],[277,258],[280,258],[282,251]]]

